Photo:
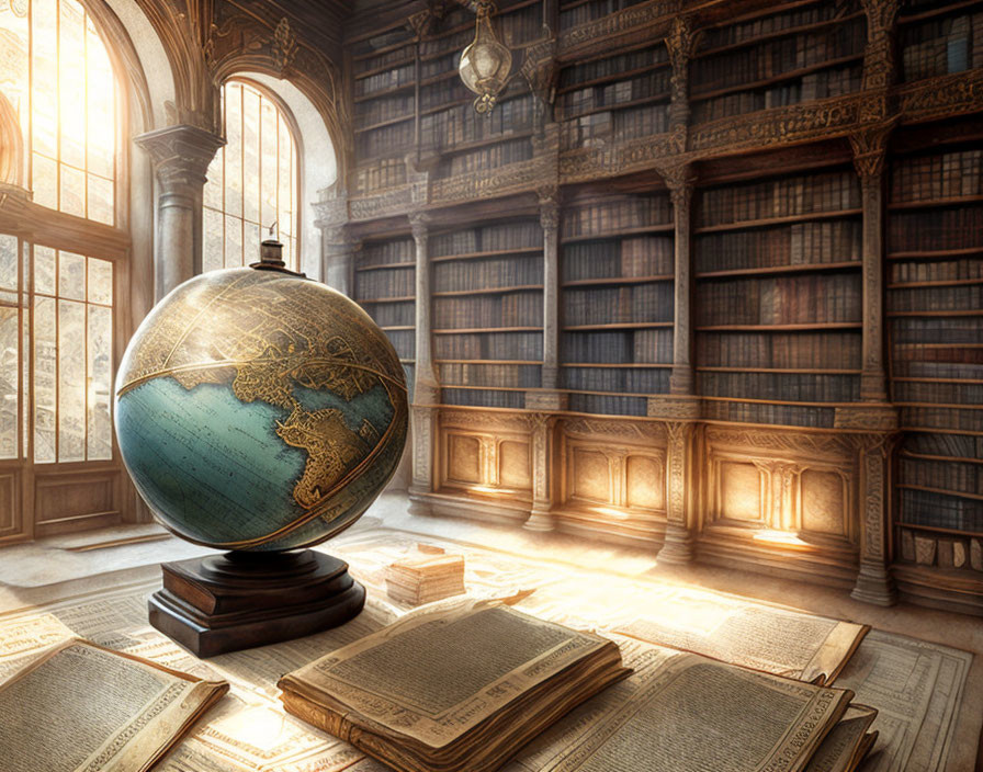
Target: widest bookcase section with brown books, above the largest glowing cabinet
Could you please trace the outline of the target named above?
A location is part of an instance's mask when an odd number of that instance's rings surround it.
[[[860,189],[834,168],[700,191],[698,390],[719,421],[832,428],[859,399]]]

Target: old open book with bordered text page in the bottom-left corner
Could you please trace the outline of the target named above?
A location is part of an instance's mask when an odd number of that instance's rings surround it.
[[[226,691],[71,638],[0,685],[3,770],[143,772]]]

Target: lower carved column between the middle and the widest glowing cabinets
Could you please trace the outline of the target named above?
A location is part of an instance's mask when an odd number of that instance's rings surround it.
[[[696,441],[693,421],[667,421],[666,434],[666,541],[659,564],[683,564],[693,559],[696,542]]]

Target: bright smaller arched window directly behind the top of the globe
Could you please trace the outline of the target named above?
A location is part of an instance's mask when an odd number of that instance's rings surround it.
[[[300,173],[293,117],[246,80],[226,82],[222,103],[226,145],[208,167],[202,268],[256,262],[260,241],[276,223],[283,259],[296,270]]]

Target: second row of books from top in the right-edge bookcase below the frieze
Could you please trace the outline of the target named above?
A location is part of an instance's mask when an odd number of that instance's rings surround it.
[[[889,252],[983,250],[983,205],[928,212],[892,212],[888,218]]]

